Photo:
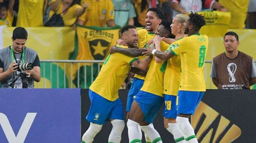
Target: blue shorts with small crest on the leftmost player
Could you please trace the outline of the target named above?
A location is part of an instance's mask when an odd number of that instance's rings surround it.
[[[89,89],[91,100],[90,110],[86,116],[89,122],[103,125],[109,119],[124,120],[123,106],[121,99],[109,101]]]

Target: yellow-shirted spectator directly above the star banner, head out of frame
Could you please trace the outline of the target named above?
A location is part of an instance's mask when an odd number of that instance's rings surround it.
[[[78,18],[78,24],[84,26],[114,27],[114,6],[111,0],[81,0],[81,4],[88,3],[89,7]]]

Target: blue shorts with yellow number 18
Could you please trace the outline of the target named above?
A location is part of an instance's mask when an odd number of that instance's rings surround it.
[[[164,108],[163,108],[163,116],[166,119],[177,117],[177,105],[178,105],[178,96],[164,94]]]

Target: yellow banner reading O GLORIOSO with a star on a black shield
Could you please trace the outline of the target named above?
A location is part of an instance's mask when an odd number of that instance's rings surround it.
[[[70,53],[69,60],[105,60],[109,54],[109,49],[116,44],[116,40],[119,38],[119,30],[119,26],[102,28],[78,25],[75,34],[75,48],[74,51]],[[93,76],[91,74],[86,75],[88,77],[86,78],[86,86],[84,85],[85,79],[80,79],[79,87],[81,88],[89,87],[91,77],[93,77],[94,80],[98,75],[98,64],[94,64],[93,67],[91,67],[90,63],[86,65],[88,65],[88,67],[86,67],[86,73],[91,73],[91,70],[93,70]],[[75,64],[72,67],[72,79],[76,87],[78,87],[77,69],[80,69],[79,75],[84,77],[84,64]]]

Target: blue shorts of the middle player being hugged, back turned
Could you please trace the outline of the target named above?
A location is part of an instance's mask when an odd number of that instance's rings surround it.
[[[158,95],[140,90],[133,98],[141,107],[144,120],[153,123],[153,120],[163,104],[164,98]]]

